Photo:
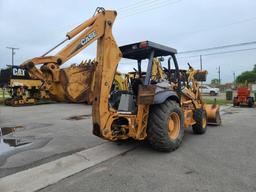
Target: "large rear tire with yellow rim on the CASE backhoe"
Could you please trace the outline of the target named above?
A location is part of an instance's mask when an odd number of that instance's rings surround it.
[[[158,151],[170,152],[180,146],[184,136],[184,116],[177,102],[168,99],[152,105],[147,135],[149,144]]]

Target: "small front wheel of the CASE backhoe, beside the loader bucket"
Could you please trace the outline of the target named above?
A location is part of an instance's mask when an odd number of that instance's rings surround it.
[[[204,109],[196,109],[194,111],[194,120],[196,124],[192,125],[195,134],[202,135],[207,130],[207,115]]]

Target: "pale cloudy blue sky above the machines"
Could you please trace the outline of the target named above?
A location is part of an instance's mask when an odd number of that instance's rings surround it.
[[[89,19],[98,6],[117,10],[113,34],[118,45],[151,40],[186,51],[255,41],[256,37],[255,0],[0,0],[0,67],[11,63],[6,46],[20,48],[15,64],[40,56]],[[95,45],[64,66],[94,56]],[[199,68],[199,57],[181,58],[184,56],[189,55],[177,56],[181,68],[187,62]],[[254,64],[256,50],[203,57],[208,80],[217,77],[221,66],[222,82],[232,81],[233,72],[238,75]]]

